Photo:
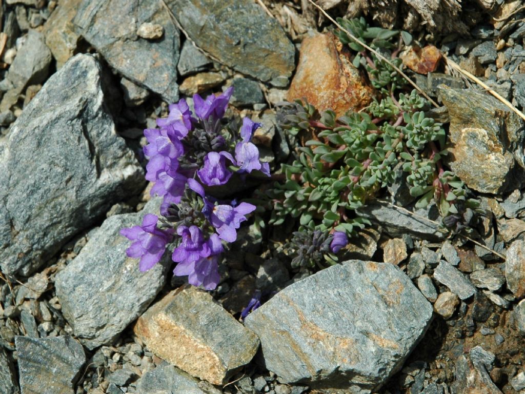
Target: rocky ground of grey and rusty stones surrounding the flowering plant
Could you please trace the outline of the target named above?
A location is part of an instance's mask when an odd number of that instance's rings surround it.
[[[361,209],[354,260],[309,276],[279,247],[286,225],[250,221],[211,293],[169,258],[141,273],[125,255],[119,230],[161,202],[143,129],[234,86],[228,113],[264,123],[275,172],[297,148],[277,103],[342,115],[373,89],[308,1],[208,3],[2,3],[0,393],[525,392],[525,123],[442,59],[523,110],[523,2],[318,2],[433,45],[401,57],[485,209],[475,242],[443,233],[435,205],[397,208],[400,182]],[[242,322],[256,289],[273,296]]]

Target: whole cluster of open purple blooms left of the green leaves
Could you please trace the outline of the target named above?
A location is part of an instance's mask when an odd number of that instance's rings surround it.
[[[149,159],[146,180],[154,182],[151,194],[163,197],[160,211],[166,220],[161,221],[167,228],[159,229],[158,217],[148,214],[141,226],[121,230],[133,241],[126,252],[129,257],[140,257],[141,271],[158,263],[167,244],[175,239],[174,274],[188,275],[190,284],[208,290],[217,286],[223,241],[237,239],[240,223],[256,207],[235,200],[219,202],[204,187],[225,185],[233,173],[244,176],[257,170],[270,176],[268,163],[259,160],[259,150],[251,142],[259,123],[244,118],[240,139],[224,131],[222,118],[232,93],[229,88],[206,99],[195,95],[197,118],[182,99],[169,106],[167,118],[157,119],[158,128],[144,130],[148,140],[144,154]]]

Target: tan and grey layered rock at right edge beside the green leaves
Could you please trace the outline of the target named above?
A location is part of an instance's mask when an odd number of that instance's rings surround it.
[[[507,106],[473,89],[439,86],[450,115],[451,169],[467,186],[499,194],[525,182],[523,121]]]

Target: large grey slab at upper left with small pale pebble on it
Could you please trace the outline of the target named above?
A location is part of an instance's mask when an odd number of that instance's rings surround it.
[[[144,22],[164,27],[164,38],[137,35]],[[82,36],[124,77],[159,94],[178,100],[179,32],[162,2],[146,0],[85,0],[74,23]]]

